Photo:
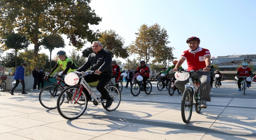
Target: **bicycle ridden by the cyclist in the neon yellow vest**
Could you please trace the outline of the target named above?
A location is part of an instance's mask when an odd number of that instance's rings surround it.
[[[57,78],[57,76],[55,77]],[[50,82],[49,79],[47,79],[47,81]],[[47,109],[57,108],[57,99],[58,99],[58,96],[60,95],[60,92],[64,90],[64,84],[65,84],[64,80],[56,79],[54,84],[51,84],[42,88],[42,90],[39,93],[40,104]],[[62,100],[60,102],[61,104],[63,103],[64,99],[65,99],[65,96],[63,94]]]

